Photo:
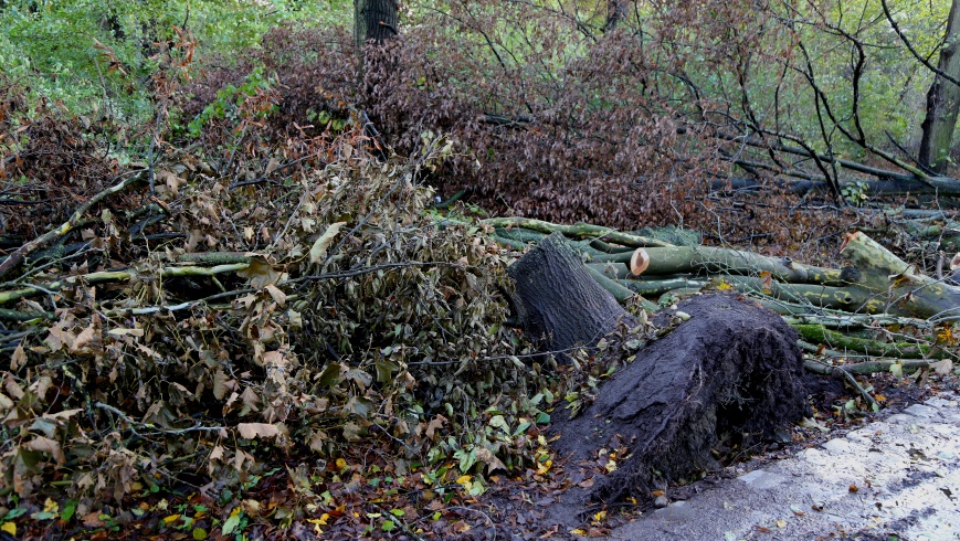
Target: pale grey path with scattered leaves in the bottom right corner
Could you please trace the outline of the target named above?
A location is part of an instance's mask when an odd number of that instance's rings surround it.
[[[945,392],[868,422],[647,512],[610,535],[819,538],[960,540],[960,396]]]

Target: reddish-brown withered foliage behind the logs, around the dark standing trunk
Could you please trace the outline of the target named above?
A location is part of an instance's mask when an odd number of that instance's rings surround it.
[[[297,145],[351,115],[366,115],[367,134],[401,153],[414,151],[424,131],[443,132],[456,151],[430,183],[442,198],[465,190],[467,201],[495,214],[626,230],[679,224],[714,241],[784,252],[816,250],[825,237],[864,223],[850,209],[773,184],[730,189],[725,179],[737,145],[714,137],[711,120],[696,121],[677,108],[681,102],[701,110],[722,104],[698,97],[682,71],[665,67],[692,62],[693,52],[657,49],[648,35],[625,32],[581,36],[574,46],[557,38],[570,35],[573,21],[524,3],[498,8],[498,17],[537,24],[504,35],[499,19],[471,9],[455,2],[386,47],[368,49],[362,72],[345,34],[274,30],[262,49],[203,68],[183,94],[183,121],[262,70],[272,81],[274,109],[257,123],[255,140],[295,142],[287,158],[296,160],[306,156],[294,151]],[[732,8],[722,11],[736,15]],[[664,28],[673,22],[656,20]],[[523,54],[510,59],[505,51],[514,46]],[[716,54],[706,62],[729,61]],[[232,137],[209,129],[203,144],[212,149]],[[260,170],[266,165],[263,156],[252,158]],[[245,173],[236,172],[240,179]],[[774,218],[782,215],[789,220]]]

